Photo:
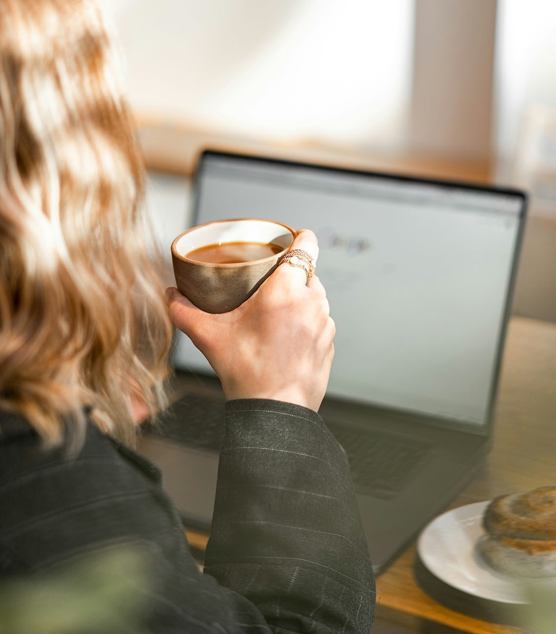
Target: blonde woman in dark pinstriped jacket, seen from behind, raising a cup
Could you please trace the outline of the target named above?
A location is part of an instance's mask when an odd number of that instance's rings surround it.
[[[231,313],[176,289],[164,302],[116,63],[93,2],[0,0],[0,578],[131,547],[146,566],[128,579],[140,631],[369,631],[349,469],[316,413],[325,291],[283,264]],[[294,248],[318,255],[310,231]],[[170,319],[228,399],[204,573],[131,448],[138,411],[165,404]]]

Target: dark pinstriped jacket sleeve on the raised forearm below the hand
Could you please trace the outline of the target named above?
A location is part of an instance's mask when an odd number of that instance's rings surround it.
[[[318,414],[226,404],[205,573],[256,605],[271,631],[371,630],[375,582],[349,467]]]

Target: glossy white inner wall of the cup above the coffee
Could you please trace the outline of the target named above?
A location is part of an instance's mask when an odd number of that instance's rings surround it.
[[[283,225],[270,220],[226,220],[202,224],[184,233],[176,242],[176,252],[185,257],[188,253],[210,244],[226,242],[273,243],[287,249],[294,240],[292,233]]]

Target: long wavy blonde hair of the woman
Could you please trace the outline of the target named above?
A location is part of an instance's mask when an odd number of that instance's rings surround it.
[[[90,0],[0,0],[0,408],[133,444],[172,328],[119,56]]]

